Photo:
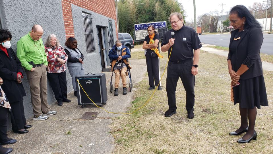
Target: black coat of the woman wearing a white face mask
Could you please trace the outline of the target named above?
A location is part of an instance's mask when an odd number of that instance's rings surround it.
[[[10,103],[23,100],[26,96],[22,83],[17,83],[17,73],[23,73],[20,60],[12,48],[7,49],[8,55],[0,49],[0,77],[4,84],[1,85]]]

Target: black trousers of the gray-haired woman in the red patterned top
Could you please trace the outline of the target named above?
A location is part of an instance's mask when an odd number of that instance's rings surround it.
[[[67,99],[66,72],[48,73],[47,78],[54,92],[57,102],[62,102]]]

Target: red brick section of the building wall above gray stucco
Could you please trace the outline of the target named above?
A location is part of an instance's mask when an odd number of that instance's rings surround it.
[[[62,0],[63,21],[65,25],[66,38],[74,37],[71,4],[115,19],[117,35],[117,16],[114,0]]]

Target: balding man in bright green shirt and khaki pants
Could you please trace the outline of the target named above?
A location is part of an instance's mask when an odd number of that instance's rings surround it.
[[[33,120],[46,120],[57,112],[50,110],[47,104],[47,56],[42,35],[44,30],[40,25],[34,25],[27,35],[17,42],[17,57],[26,70],[30,86]]]

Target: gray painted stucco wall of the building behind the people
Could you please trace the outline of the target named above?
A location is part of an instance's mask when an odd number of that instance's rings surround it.
[[[42,36],[43,41],[45,42],[47,36],[51,33],[55,34],[62,46],[65,47],[65,28],[63,22],[63,12],[61,0],[47,0],[47,1],[36,1],[36,0],[0,0],[0,11],[1,11],[1,22],[3,23],[4,29],[9,29],[12,34],[12,48],[16,52],[16,43],[29,31],[34,24],[41,25],[44,29],[44,35]],[[94,43],[96,45],[96,51],[93,53],[86,53],[86,45],[84,38],[84,25],[82,19],[82,11],[86,13],[92,13],[93,17],[93,33],[94,33]],[[92,11],[77,7],[72,5],[73,13],[73,23],[74,23],[74,33],[75,38],[78,40],[78,47],[81,52],[84,54],[84,68],[85,72],[98,73],[101,72],[101,62],[100,62],[100,48],[98,45],[98,31],[96,25],[108,26],[107,17],[94,13]],[[113,19],[109,19],[113,22],[113,33],[115,36],[115,22]],[[107,30],[107,29],[106,29]],[[106,31],[106,44],[108,47],[107,55],[109,52],[109,40],[108,40],[108,31]],[[115,38],[116,39],[116,38]],[[108,57],[108,56],[107,56]],[[28,81],[26,80],[26,74],[22,80],[27,96],[24,97],[24,110],[26,118],[33,116],[32,105],[30,99],[30,88]],[[67,70],[67,91],[73,91],[71,76]],[[47,82],[47,101],[48,104],[56,102],[52,89]]]

